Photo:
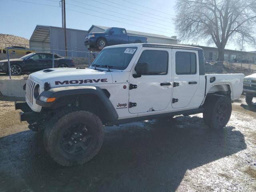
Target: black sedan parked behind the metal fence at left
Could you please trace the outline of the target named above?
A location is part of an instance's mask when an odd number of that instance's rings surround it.
[[[54,67],[74,66],[71,58],[64,58],[54,54]],[[34,72],[52,68],[52,53],[30,53],[19,59],[10,59],[12,75],[20,75],[22,72]],[[0,61],[0,72],[8,73],[8,60]]]

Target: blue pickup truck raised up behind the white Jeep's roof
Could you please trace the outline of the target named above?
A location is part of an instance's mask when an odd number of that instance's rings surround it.
[[[127,35],[126,29],[111,27],[107,28],[104,32],[87,34],[84,45],[89,49],[102,49],[109,45],[147,42],[147,37]]]

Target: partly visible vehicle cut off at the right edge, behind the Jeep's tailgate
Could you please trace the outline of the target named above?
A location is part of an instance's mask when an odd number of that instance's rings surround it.
[[[252,99],[256,97],[256,73],[244,77],[243,95],[246,103],[252,105]]]

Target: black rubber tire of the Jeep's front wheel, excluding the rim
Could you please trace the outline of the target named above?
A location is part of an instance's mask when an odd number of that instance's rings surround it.
[[[44,130],[44,146],[50,157],[63,166],[84,164],[92,159],[100,150],[104,138],[103,125],[95,114],[88,111],[73,111],[56,115]],[[61,142],[65,130],[74,124],[83,123],[90,127],[92,141],[84,152],[70,154],[65,151]]]

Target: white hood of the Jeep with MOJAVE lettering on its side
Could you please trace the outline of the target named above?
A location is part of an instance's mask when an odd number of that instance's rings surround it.
[[[34,72],[29,77],[39,82],[41,87],[46,82],[50,83],[51,87],[112,83],[110,72],[90,68],[51,68]]]

